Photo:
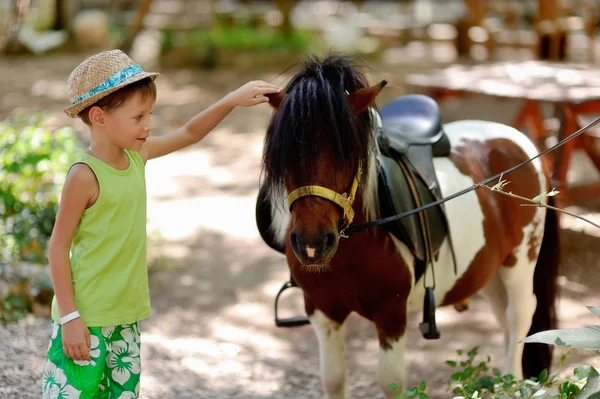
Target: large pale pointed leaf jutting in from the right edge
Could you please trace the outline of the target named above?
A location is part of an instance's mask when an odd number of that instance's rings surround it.
[[[600,350],[600,326],[542,331],[522,339],[521,342]]]

